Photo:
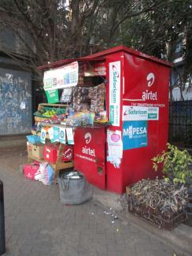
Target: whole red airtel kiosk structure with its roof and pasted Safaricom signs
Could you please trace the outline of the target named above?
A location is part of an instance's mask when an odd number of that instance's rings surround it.
[[[108,127],[76,127],[75,169],[97,187],[122,194],[142,178],[155,178],[151,158],[168,142],[168,87],[172,65],[125,46],[84,58],[57,61],[96,63],[105,70]]]

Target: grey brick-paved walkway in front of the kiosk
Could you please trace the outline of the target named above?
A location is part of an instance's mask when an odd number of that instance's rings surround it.
[[[61,204],[58,185],[44,186],[21,176],[19,165],[24,162],[27,158],[20,153],[0,157],[5,255],[186,255],[134,224],[114,221],[93,201],[79,206]]]

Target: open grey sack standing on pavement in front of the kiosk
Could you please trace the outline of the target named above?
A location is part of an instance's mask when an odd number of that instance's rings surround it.
[[[87,202],[93,196],[93,191],[85,176],[79,172],[69,172],[58,176],[61,202],[77,205]]]

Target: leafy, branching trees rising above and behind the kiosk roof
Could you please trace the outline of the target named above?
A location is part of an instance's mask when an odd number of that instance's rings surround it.
[[[175,42],[184,32],[187,77],[192,63],[191,6],[191,0],[1,0],[0,26],[17,35],[30,58],[6,53],[35,73],[38,65],[122,43],[172,61]]]

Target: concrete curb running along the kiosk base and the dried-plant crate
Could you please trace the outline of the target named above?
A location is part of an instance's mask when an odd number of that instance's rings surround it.
[[[172,231],[159,229],[153,224],[150,224],[127,211],[122,213],[123,207],[121,206],[120,209],[120,195],[113,194],[109,191],[102,191],[97,187],[93,187],[93,189],[93,200],[98,206],[101,206],[102,208],[113,208],[113,210],[116,210],[120,220],[124,221],[124,223],[129,221],[132,224],[135,224],[138,228],[142,228],[146,232],[150,232],[159,239],[163,239],[166,243],[171,243],[173,247],[177,247],[186,254],[192,255],[192,228],[186,226],[185,224],[180,224]]]

